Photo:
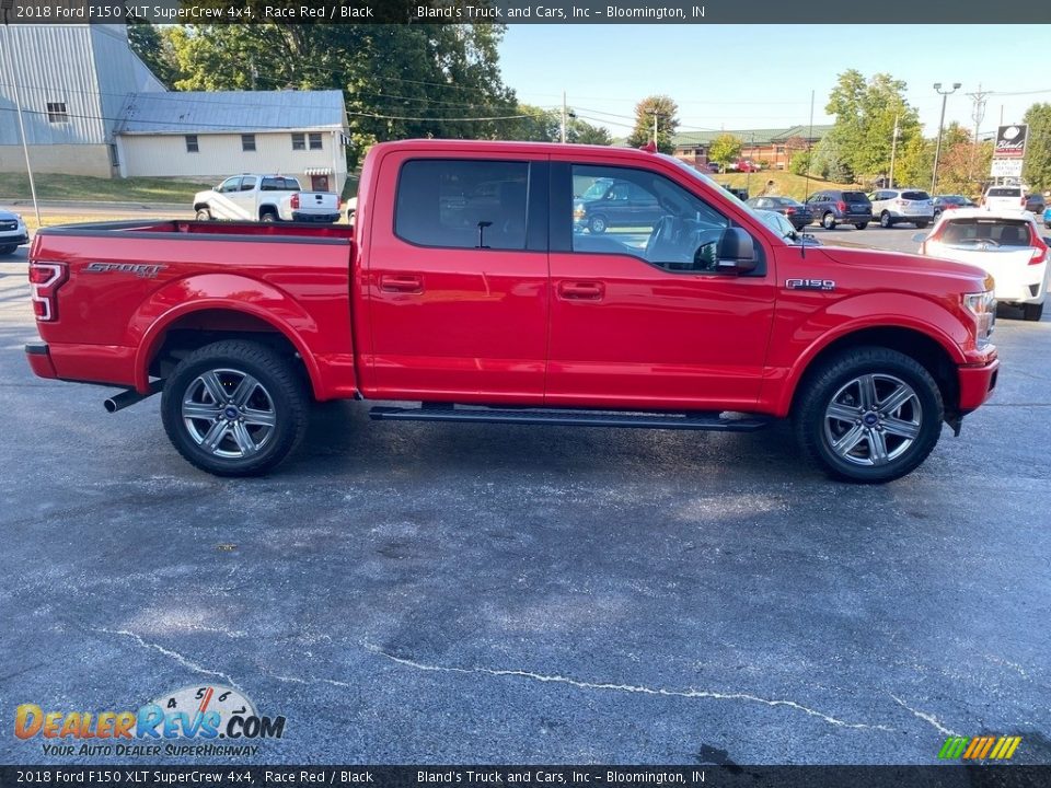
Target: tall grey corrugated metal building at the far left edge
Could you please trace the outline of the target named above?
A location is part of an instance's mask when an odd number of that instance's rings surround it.
[[[164,90],[128,47],[123,24],[0,28],[0,178],[25,172],[15,84],[34,172],[101,177],[116,174],[114,127],[125,97]]]

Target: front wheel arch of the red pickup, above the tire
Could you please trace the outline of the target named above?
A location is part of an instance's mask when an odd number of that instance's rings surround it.
[[[935,337],[932,333],[915,327],[885,325],[857,328],[811,348],[793,369],[789,384],[785,386],[782,402],[778,404],[778,413],[783,415],[793,413],[807,379],[815,374],[828,359],[855,347],[885,347],[914,359],[938,384],[946,414],[958,410],[960,384],[957,367],[963,360],[958,355],[958,348],[955,348],[955,345],[947,341],[945,337]],[[954,355],[950,348],[955,348],[957,354]]]

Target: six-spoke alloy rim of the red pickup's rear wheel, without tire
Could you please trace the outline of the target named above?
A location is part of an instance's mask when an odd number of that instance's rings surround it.
[[[183,424],[197,445],[219,457],[241,460],[262,450],[277,426],[269,392],[247,372],[215,369],[186,387]]]

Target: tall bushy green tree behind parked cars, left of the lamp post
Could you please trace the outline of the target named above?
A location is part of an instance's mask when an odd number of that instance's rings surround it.
[[[829,95],[825,112],[835,124],[822,142],[821,164],[846,179],[869,179],[890,170],[894,117],[898,148],[921,134],[916,109],[904,99],[905,83],[887,73],[866,80],[850,69],[840,74]]]

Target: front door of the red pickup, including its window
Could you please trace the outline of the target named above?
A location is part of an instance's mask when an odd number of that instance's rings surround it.
[[[741,410],[762,381],[775,297],[770,248],[752,275],[715,270],[730,218],[686,173],[552,162],[550,405]],[[573,195],[598,178],[631,183],[660,206],[593,233]]]

